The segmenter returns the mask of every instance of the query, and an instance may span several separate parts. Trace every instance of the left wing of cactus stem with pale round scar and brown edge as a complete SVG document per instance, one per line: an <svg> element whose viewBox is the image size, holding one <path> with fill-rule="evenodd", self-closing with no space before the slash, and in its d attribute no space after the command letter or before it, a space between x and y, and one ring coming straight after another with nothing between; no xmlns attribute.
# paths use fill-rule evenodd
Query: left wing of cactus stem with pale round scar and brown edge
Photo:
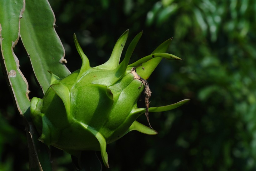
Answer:
<svg viewBox="0 0 256 171"><path fill-rule="evenodd" d="M20 38L20 20L25 10L25 0L18 3L1 1L0 7L3 16L0 18L1 65L6 69L5 77L17 110L23 115L30 106L28 83L20 71L19 60L13 50Z"/></svg>

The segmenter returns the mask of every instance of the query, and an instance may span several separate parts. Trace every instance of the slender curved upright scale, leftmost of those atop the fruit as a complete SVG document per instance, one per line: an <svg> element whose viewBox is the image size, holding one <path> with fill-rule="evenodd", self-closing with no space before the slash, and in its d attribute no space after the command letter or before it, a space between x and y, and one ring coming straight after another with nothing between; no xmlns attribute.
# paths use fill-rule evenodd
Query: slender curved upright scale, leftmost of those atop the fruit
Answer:
<svg viewBox="0 0 256 171"><path fill-rule="evenodd" d="M79 55L82 58L82 67L81 67L81 70L80 70L80 73L79 73L79 75L81 75L82 73L84 73L86 70L88 70L90 68L90 62L89 62L89 59L87 58L87 56L84 54L81 46L79 45L75 33L74 33L73 38L74 38L74 42L75 42L75 45L76 45L76 50L78 51Z"/></svg>

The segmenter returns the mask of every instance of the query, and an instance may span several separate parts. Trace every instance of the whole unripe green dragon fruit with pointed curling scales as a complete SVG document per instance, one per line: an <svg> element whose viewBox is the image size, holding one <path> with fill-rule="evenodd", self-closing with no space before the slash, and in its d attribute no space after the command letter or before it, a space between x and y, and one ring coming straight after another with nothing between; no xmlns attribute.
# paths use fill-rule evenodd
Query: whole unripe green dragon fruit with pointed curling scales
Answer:
<svg viewBox="0 0 256 171"><path fill-rule="evenodd" d="M41 136L39 140L79 157L81 151L101 151L106 167L109 167L106 144L120 139L131 130L144 134L157 132L136 119L148 112L166 111L186 102L149 108L151 91L146 79L161 58L180 58L162 53L170 41L160 45L149 56L128 65L130 56L139 41L140 32L130 43L124 60L119 64L121 52L128 37L128 30L118 39L110 59L96 67L81 50L74 35L75 45L82 58L81 69L65 78L52 74L51 85L42 99L31 100L31 118ZM168 45L166 45L168 44ZM147 63L147 65L146 65ZM151 67L151 68L150 68ZM138 74L138 71L143 76ZM138 108L137 101L145 93L145 108Z"/></svg>

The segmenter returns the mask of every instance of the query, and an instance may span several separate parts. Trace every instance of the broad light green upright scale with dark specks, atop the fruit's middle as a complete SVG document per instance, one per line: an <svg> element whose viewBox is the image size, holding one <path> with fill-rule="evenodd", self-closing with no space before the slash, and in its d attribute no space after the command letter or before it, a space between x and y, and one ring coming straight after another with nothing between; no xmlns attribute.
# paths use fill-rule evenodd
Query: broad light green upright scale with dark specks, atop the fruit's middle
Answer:
<svg viewBox="0 0 256 171"><path fill-rule="evenodd" d="M128 33L129 33L129 30L126 30L122 34L122 36L117 40L109 60L100 66L96 66L95 68L106 69L106 70L113 70L117 68L117 66L119 65L122 51L124 49L124 46L128 37Z"/></svg>

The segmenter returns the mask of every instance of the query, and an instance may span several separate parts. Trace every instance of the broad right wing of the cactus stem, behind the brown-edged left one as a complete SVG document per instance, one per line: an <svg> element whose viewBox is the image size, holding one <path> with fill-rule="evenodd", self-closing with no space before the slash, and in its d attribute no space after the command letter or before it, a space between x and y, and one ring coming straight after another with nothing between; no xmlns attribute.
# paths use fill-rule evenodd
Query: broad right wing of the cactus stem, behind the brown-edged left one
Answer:
<svg viewBox="0 0 256 171"><path fill-rule="evenodd" d="M20 35L43 93L50 86L52 71L60 78L70 71L64 65L65 51L55 31L55 16L47 0L26 0Z"/></svg>

